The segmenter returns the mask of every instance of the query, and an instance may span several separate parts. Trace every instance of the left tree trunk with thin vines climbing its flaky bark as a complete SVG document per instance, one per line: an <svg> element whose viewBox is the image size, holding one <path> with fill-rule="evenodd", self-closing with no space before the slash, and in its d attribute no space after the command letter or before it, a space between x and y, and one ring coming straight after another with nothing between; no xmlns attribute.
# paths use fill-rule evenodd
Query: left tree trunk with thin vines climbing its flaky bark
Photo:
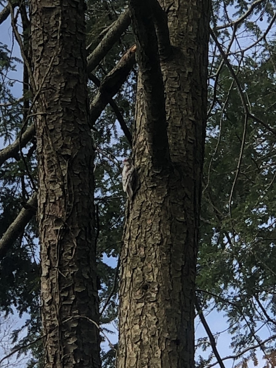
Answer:
<svg viewBox="0 0 276 368"><path fill-rule="evenodd" d="M45 368L99 368L85 2L30 3Z"/></svg>

